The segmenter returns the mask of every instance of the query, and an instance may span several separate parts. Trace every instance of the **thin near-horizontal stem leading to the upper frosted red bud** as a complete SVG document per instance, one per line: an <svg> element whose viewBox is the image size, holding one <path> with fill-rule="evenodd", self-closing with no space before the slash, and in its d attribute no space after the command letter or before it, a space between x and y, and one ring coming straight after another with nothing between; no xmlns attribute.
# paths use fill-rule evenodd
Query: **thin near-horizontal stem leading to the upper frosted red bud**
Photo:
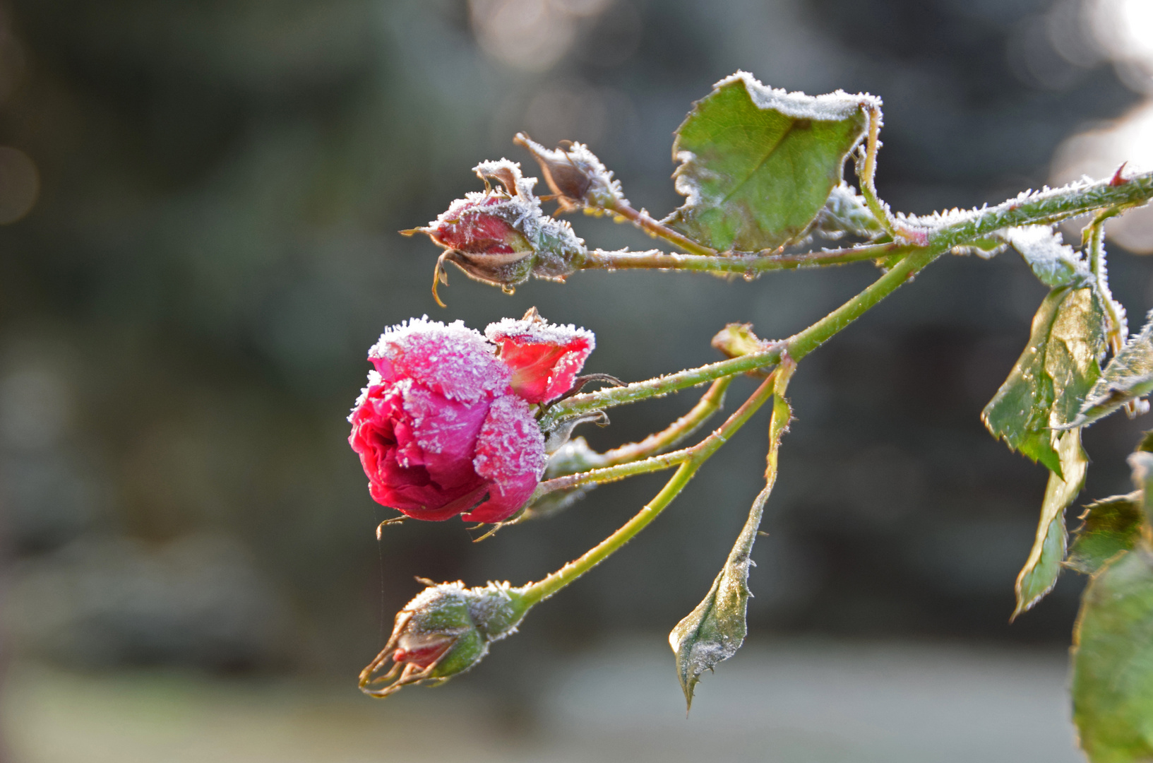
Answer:
<svg viewBox="0 0 1153 763"><path fill-rule="evenodd" d="M869 244L842 249L801 252L799 254L665 254L648 252L605 252L594 249L581 263L582 270L687 270L698 272L733 272L756 276L769 270L823 268L828 265L880 260L910 250L905 244Z"/></svg>

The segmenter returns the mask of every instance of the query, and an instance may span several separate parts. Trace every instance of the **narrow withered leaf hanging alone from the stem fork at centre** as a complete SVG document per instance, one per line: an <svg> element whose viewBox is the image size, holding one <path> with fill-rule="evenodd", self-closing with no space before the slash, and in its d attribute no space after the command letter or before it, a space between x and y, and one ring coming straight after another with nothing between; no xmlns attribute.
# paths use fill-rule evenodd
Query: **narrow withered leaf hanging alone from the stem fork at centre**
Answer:
<svg viewBox="0 0 1153 763"><path fill-rule="evenodd" d="M753 563L749 554L756 530L761 525L764 503L773 492L777 478L777 449L781 436L789 428L791 411L789 403L779 395L773 398L773 420L769 422L769 455L764 470L764 489L753 501L748 519L737 537L729 559L721 574L713 581L704 599L677 623L669 634L669 645L677 656L677 678L685 693L685 702L693 706L693 689L701 680L701 673L711 671L740 649L745 641L745 613L748 607L748 568Z"/></svg>

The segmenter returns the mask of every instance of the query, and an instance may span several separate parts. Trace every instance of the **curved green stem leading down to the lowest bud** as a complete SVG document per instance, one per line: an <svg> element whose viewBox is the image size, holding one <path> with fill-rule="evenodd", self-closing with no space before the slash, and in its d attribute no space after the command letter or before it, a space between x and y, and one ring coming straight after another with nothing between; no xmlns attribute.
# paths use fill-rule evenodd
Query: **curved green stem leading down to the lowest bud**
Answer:
<svg viewBox="0 0 1153 763"><path fill-rule="evenodd" d="M626 543L632 540L632 538L648 526L653 519L657 517L661 511L672 502L675 498L684 489L685 485L696 474L696 470L701 467L709 457L717 451L717 449L728 442L729 437L739 429L754 413L773 397L774 386L776 382L776 372L766 379L756 391L737 409L732 416L718 428L716 432L710 434L708 437L702 440L700 444L694 446L689 450L693 450L691 457L680 464L680 467L676 473L665 483L661 492L656 494L651 501L649 501L645 508L642 508L636 516L621 525L611 536L598 543L593 548L581 554L579 559L568 562L556 573L552 573L544 579L537 583L530 583L523 589L521 589L521 594L523 597L523 603L527 607L533 606L541 599L547 599L552 596L564 586L572 583L574 579L593 569L600 564L604 559L616 552L618 548L624 546Z"/></svg>

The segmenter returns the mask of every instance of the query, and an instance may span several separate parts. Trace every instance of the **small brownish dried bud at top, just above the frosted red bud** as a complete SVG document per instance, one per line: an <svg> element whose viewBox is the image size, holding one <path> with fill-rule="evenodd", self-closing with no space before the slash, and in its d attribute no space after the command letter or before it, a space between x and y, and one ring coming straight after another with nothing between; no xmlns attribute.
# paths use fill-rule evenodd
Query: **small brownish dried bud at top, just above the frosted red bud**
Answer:
<svg viewBox="0 0 1153 763"><path fill-rule="evenodd" d="M513 143L532 152L563 210L611 210L620 202L628 203L620 181L612 179L612 173L583 143L563 141L559 148L549 150L525 133L517 133Z"/></svg>

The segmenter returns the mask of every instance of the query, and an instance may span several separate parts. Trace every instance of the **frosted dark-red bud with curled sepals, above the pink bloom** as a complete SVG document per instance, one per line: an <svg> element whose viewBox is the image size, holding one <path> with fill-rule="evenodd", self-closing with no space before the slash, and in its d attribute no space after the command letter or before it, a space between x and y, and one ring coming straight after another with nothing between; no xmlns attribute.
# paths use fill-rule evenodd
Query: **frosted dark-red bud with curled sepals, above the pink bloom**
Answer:
<svg viewBox="0 0 1153 763"><path fill-rule="evenodd" d="M437 304L444 306L436 292L438 283L447 283L445 262L506 291L530 275L564 280L580 268L585 241L567 223L544 214L533 194L535 178L522 177L520 165L507 159L482 162L473 170L484 181L483 192L458 199L427 227L401 231L424 233L444 249L432 278Z"/></svg>

